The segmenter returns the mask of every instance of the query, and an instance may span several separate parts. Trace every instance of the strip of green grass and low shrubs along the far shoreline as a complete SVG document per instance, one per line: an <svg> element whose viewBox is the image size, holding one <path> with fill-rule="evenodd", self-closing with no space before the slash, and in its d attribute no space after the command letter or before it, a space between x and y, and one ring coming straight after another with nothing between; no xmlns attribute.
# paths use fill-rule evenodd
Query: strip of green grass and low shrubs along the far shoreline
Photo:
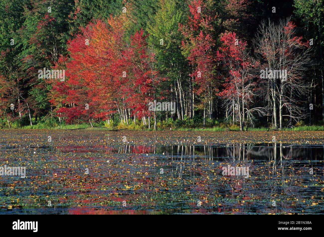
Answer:
<svg viewBox="0 0 324 237"><path fill-rule="evenodd" d="M9 129L6 121L0 121L0 129ZM26 118L23 119L22 125L19 120L16 120L11 123L11 129L128 129L134 131L152 131L154 130L154 119L151 119L151 127L148 128L148 121L146 120L146 125L143 125L143 121L136 120L134 122L132 119L127 122L120 121L118 118L110 119L110 121L97 121L92 122L92 126L90 123L77 123L77 124L65 124L58 121L56 117L44 117L42 119L38 119L37 121L34 119L32 121L33 125L28 125L29 120ZM205 124L205 127L204 127ZM284 123L288 124L287 121ZM303 121L299 121L295 123L295 126L292 128L283 128L282 131L324 131L324 123L322 121L311 121L312 125L305 124ZM244 127L244 130L246 128ZM205 123L202 118L189 119L187 116L183 120L173 120L171 118L167 120L157 121L156 122L156 130L158 131L230 131L230 130L239 130L239 126L237 124L232 124L230 121L226 121L224 119L211 120L206 119ZM272 129L271 123L268 124L256 124L254 128L248 127L248 131L268 131L274 130Z"/></svg>

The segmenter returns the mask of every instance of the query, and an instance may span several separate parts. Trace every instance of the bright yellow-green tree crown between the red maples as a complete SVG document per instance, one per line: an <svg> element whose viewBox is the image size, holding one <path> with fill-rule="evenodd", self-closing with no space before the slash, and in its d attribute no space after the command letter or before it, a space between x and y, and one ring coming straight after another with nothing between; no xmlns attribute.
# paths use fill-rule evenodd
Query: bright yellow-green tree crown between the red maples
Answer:
<svg viewBox="0 0 324 237"><path fill-rule="evenodd" d="M174 81L179 83L183 79L180 75L188 73L188 62L180 49L183 36L178 30L179 23L187 20L187 10L183 1L161 1L155 21L147 27L148 43L156 53L157 67L168 78L164 83L167 88L173 86Z"/></svg>

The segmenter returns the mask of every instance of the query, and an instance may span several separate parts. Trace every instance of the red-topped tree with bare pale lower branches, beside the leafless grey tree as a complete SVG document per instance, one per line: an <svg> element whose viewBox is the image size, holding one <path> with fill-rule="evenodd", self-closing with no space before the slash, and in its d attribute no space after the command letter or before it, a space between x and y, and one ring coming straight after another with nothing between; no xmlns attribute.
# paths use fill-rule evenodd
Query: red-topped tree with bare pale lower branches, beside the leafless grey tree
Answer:
<svg viewBox="0 0 324 237"><path fill-rule="evenodd" d="M235 33L225 33L221 41L224 43L220 48L221 53L218 52L218 58L224 60L228 77L220 96L224 98L224 107L228 108L227 114L233 116L233 121L236 115L242 131L245 123L254 126L256 113L265 115L263 107L254 107L259 91L259 75L256 70L259 63L249 56L247 43L238 41Z"/></svg>

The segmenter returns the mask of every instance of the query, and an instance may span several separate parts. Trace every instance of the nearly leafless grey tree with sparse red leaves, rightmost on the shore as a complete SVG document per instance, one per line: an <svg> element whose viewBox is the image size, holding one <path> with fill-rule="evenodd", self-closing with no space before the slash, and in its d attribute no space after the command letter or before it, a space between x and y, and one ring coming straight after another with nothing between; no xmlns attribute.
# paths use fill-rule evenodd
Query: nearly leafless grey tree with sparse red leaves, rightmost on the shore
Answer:
<svg viewBox="0 0 324 237"><path fill-rule="evenodd" d="M269 80L266 97L271 100L268 107L272 110L273 126L281 129L284 116L290 121L305 118L307 112L301 98L310 88L303 80L311 63L310 48L302 37L295 36L294 23L290 18L278 23L262 22L254 46L263 61L263 77Z"/></svg>

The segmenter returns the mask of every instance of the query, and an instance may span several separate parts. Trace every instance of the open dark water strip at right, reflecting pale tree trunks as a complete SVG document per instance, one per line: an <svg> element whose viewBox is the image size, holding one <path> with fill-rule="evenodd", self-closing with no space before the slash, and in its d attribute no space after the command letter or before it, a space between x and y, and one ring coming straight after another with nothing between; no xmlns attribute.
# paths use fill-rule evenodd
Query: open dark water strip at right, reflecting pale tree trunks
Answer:
<svg viewBox="0 0 324 237"><path fill-rule="evenodd" d="M67 149L69 150L69 149ZM98 148L100 150L100 148ZM114 146L113 153L163 154L204 160L323 160L323 145L230 144L226 146Z"/></svg>

